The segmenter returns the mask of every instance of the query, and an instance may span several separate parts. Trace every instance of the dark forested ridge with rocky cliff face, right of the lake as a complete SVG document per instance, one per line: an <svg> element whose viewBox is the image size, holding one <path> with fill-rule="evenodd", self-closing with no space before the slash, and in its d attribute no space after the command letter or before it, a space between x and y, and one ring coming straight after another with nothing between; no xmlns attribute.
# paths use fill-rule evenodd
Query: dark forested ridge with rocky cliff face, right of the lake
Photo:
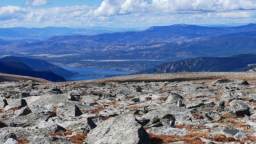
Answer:
<svg viewBox="0 0 256 144"><path fill-rule="evenodd" d="M246 71L249 68L256 67L255 64L256 53L238 54L230 57L200 57L163 63L155 68L146 69L136 74Z"/></svg>

